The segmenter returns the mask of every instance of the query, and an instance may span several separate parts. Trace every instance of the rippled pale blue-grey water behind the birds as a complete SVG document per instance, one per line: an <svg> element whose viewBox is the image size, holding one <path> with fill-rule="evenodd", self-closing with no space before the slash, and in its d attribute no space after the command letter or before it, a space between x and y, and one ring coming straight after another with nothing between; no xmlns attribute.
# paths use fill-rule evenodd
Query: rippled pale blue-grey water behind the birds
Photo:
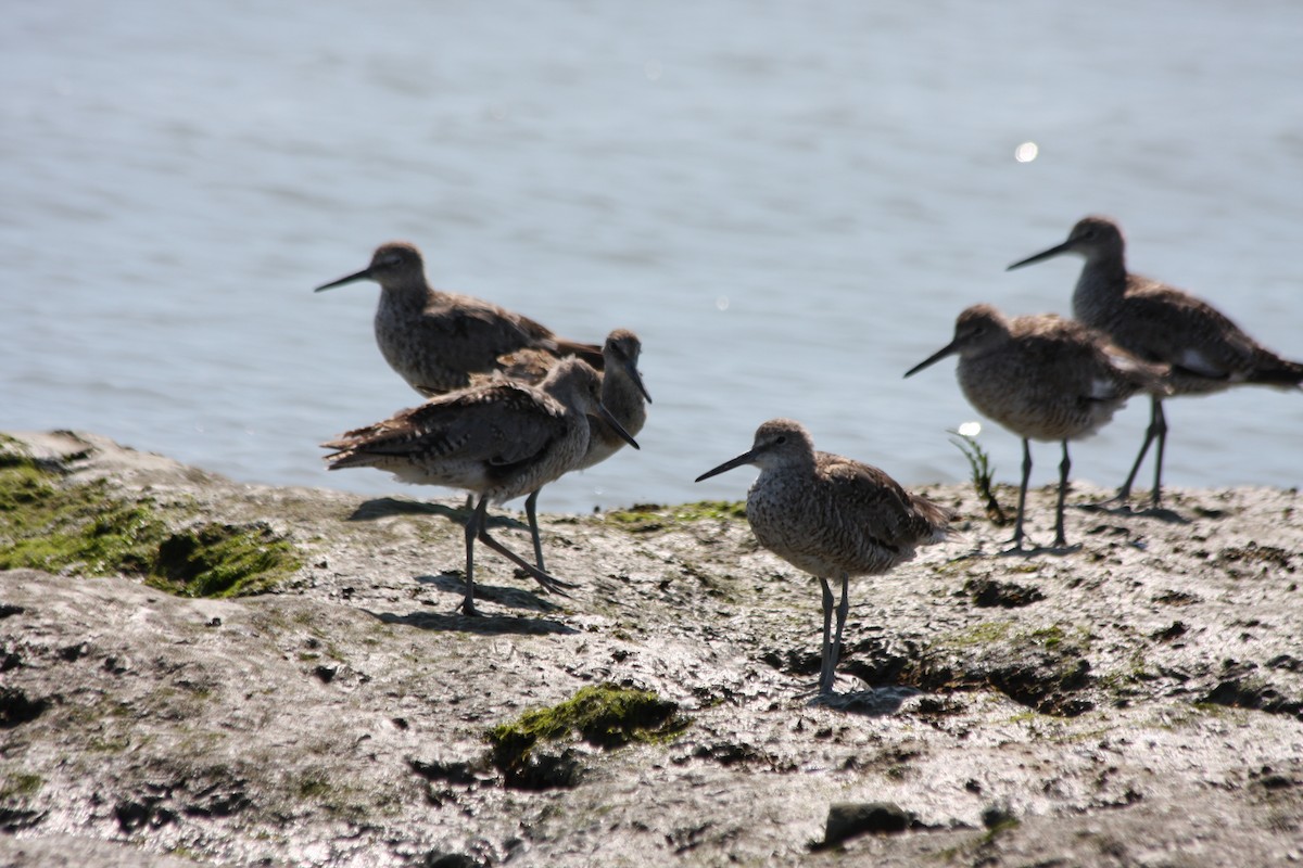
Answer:
<svg viewBox="0 0 1303 868"><path fill-rule="evenodd" d="M681 7L681 8L680 8ZM1003 267L1115 216L1130 264L1303 357L1303 5L13 0L0 30L0 427L87 428L266 483L417 397L377 289L433 282L644 340L641 453L543 509L740 497L697 474L775 415L907 483L967 476L964 306L1068 312L1079 262ZM1037 159L1015 160L1024 142ZM1134 402L1074 449L1117 484ZM1296 485L1303 397L1170 403L1173 484ZM1018 441L988 426L998 478ZM1036 481L1054 479L1042 446ZM1148 472L1148 471L1147 471ZM417 496L439 492L409 492Z"/></svg>

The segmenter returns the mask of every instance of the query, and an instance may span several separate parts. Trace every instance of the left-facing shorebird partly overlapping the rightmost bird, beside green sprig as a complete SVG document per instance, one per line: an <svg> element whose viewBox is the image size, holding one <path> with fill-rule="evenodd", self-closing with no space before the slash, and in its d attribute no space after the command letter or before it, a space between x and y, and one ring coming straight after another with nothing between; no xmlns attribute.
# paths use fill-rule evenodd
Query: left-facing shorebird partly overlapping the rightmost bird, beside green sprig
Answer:
<svg viewBox="0 0 1303 868"><path fill-rule="evenodd" d="M1023 481L1018 489L1014 550L1023 548L1029 440L1063 444L1059 463L1054 545L1066 547L1063 498L1072 467L1067 441L1095 433L1140 390L1162 394L1165 368L1110 346L1081 323L1041 314L1006 319L990 305L973 305L955 321L955 337L906 371L912 376L947 355L959 357L959 388L979 413L1023 440Z"/></svg>

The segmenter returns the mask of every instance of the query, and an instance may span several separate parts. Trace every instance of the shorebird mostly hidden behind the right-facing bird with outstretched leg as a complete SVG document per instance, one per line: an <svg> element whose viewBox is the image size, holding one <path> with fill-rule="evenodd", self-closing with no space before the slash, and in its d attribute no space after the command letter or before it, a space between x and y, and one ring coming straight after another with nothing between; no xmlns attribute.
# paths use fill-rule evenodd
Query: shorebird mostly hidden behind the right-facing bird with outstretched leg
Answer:
<svg viewBox="0 0 1303 868"><path fill-rule="evenodd" d="M638 355L642 353L642 342L638 336L627 328L618 328L606 336L602 345L602 405L615 416L624 432L638 436L642 426L648 420L646 405L652 403L652 396L642 385L642 375L638 373ZM489 383L493 379L507 377L521 383L539 383L549 371L556 366L556 358L539 350L520 350L500 359L502 368L493 375L477 375L476 381ZM588 452L571 470L586 470L598 465L627 442L620 431L616 431L599 414L589 414ZM529 519L529 531L534 543L534 563L539 570L543 566L543 545L538 537L538 493L536 488L525 498L525 517Z"/></svg>

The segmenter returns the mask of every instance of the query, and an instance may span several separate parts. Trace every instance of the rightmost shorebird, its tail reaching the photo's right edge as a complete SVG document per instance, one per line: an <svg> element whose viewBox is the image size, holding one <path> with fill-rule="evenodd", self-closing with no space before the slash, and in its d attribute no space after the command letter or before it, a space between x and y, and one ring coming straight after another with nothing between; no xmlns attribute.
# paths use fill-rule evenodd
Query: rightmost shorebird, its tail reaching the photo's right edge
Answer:
<svg viewBox="0 0 1303 868"><path fill-rule="evenodd" d="M1072 315L1128 353L1170 366L1173 396L1208 394L1240 383L1290 388L1303 381L1303 363L1282 359L1263 347L1212 305L1175 286L1127 272L1122 230L1106 217L1081 219L1067 241L1014 263L1009 271L1068 252L1085 258L1072 292ZM1162 454L1167 441L1158 393L1152 394L1149 427L1118 500L1131 496L1131 484L1156 439L1154 508L1162 500Z"/></svg>

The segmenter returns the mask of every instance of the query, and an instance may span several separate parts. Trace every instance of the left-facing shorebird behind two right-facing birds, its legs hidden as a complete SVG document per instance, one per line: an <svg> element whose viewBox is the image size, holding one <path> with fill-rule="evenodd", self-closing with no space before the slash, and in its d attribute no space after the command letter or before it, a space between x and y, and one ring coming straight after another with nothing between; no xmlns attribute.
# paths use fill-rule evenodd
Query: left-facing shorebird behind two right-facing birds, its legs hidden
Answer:
<svg viewBox="0 0 1303 868"><path fill-rule="evenodd" d="M433 289L414 245L380 245L370 265L315 292L358 280L380 285L375 342L384 360L426 397L464 389L472 373L494 371L499 357L525 347L556 357L579 355L602 367L597 345L558 337L528 316L478 298Z"/></svg>

